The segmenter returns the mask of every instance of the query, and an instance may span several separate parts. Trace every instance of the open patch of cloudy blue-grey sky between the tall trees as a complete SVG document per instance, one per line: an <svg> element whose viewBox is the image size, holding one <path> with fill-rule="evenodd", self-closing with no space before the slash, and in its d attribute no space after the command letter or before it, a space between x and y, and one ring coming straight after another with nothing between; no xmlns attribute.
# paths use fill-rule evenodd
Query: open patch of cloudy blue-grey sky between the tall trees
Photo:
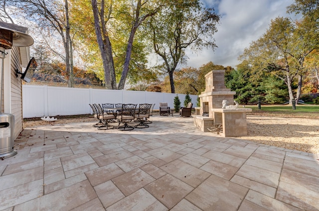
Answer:
<svg viewBox="0 0 319 211"><path fill-rule="evenodd" d="M286 13L294 0L202 0L206 7L213 7L221 15L217 32L213 35L218 48L203 49L192 54L187 52L187 67L200 67L212 61L216 65L236 69L238 56L252 41L261 37L269 28L272 19Z"/></svg>

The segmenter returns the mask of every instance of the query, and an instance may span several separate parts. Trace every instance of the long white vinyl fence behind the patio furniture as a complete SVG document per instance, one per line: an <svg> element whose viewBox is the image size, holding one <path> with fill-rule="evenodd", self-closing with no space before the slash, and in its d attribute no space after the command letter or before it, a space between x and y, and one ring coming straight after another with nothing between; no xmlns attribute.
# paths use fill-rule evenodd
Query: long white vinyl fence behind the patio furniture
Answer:
<svg viewBox="0 0 319 211"><path fill-rule="evenodd" d="M174 107L176 94L127 90L81 89L49 86L22 86L23 118L92 113L89 104L155 104ZM197 95L189 95L193 107ZM185 95L178 94L181 106Z"/></svg>

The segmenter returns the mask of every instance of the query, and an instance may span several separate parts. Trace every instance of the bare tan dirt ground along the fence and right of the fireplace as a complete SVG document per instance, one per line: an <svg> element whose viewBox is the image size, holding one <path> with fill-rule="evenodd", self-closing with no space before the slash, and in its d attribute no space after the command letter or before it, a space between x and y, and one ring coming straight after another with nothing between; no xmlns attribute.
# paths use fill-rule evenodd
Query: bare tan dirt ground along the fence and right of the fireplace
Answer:
<svg viewBox="0 0 319 211"><path fill-rule="evenodd" d="M96 121L85 116L81 118L58 118L54 122L29 120L24 127L69 122ZM247 114L248 135L239 137L262 144L319 154L319 116L285 116L270 114Z"/></svg>

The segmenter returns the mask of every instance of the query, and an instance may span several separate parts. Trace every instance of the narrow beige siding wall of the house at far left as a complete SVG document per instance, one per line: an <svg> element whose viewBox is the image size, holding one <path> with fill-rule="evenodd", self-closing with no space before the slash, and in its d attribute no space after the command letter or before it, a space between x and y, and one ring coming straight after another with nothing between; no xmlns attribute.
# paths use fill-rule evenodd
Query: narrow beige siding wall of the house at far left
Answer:
<svg viewBox="0 0 319 211"><path fill-rule="evenodd" d="M14 139L23 129L22 118L22 82L20 76L15 77L15 70L21 72L21 58L19 48L11 49L11 113L14 115Z"/></svg>

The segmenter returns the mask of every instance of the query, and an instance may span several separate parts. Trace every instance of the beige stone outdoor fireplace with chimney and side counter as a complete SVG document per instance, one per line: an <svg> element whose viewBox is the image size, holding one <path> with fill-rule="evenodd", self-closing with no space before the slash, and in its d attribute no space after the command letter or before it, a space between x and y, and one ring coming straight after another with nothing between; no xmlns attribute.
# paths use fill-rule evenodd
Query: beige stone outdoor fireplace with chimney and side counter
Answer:
<svg viewBox="0 0 319 211"><path fill-rule="evenodd" d="M223 101L234 105L234 95L225 86L225 71L213 70L205 75L205 91L199 95L199 115L194 116L194 125L202 131L218 125L224 137L247 135L246 112L250 108L222 108Z"/></svg>

